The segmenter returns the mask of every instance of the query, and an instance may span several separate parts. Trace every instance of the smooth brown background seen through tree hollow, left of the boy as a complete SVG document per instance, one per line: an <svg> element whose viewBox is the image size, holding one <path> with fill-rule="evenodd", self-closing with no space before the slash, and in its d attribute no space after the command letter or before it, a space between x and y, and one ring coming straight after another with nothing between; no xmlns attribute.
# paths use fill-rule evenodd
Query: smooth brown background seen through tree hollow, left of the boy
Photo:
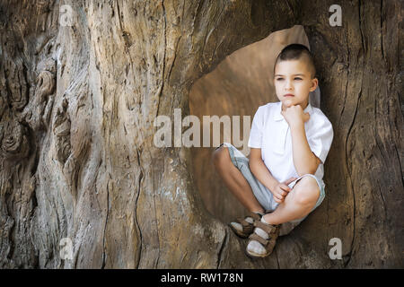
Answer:
<svg viewBox="0 0 404 287"><path fill-rule="evenodd" d="M203 117L230 118L230 140L224 140L224 124L221 124L220 143L230 142L248 156L250 125L247 135L243 135L243 116L250 116L251 124L259 106L278 101L272 80L273 65L281 49L292 43L310 47L303 26L278 30L265 39L233 52L214 71L194 83L189 92L190 115L197 116L201 123L201 147L191 148L194 185L198 188L207 211L224 223L246 214L247 211L224 186L211 161L212 153L218 145L212 140L214 125L207 125L210 144L209 147L203 147ZM236 128L240 130L241 147L233 143L234 116L240 116L240 125ZM227 136L228 134L227 132Z"/></svg>

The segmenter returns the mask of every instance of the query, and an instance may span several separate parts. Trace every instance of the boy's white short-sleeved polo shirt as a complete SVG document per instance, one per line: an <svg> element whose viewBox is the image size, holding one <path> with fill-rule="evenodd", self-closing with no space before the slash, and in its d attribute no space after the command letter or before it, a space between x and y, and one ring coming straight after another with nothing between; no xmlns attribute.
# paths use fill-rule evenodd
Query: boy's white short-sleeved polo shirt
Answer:
<svg viewBox="0 0 404 287"><path fill-rule="evenodd" d="M279 182L288 178L298 178L294 169L292 151L292 136L285 117L281 114L282 102L269 102L260 106L252 120L249 147L260 148L262 161ZM304 123L307 142L312 152L321 160L315 176L325 187L323 163L329 153L334 132L329 119L321 109L314 108L309 103L304 112L310 114L310 119Z"/></svg>

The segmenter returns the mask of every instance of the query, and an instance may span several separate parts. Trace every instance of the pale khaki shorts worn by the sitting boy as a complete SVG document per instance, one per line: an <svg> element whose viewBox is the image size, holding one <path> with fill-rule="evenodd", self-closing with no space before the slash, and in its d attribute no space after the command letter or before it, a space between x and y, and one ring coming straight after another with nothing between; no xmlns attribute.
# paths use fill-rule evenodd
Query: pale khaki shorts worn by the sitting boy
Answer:
<svg viewBox="0 0 404 287"><path fill-rule="evenodd" d="M242 172L242 176L247 180L247 182L250 184L250 187L252 189L252 192L254 196L257 198L259 204L268 211L274 211L277 208L278 203L275 201L272 193L269 191L267 187L265 187L263 184L259 182L259 180L252 174L249 166L249 159L242 154L233 144L231 143L221 143L216 149L221 147L222 145L226 146L229 150L230 153L230 158L233 162L233 165ZM293 188L296 182L303 178L303 177L312 177L315 178L317 181L317 184L320 187L320 196L319 199L317 200L317 203L314 205L312 208L312 211L316 209L321 202L324 200L325 197L325 191L324 191L324 183L322 180L319 178L315 177L312 174L304 174L303 176L294 179L288 187ZM311 211L311 213L312 213ZM285 235L289 233L291 230L294 229L297 225L299 225L300 222L303 222L303 220L307 217L304 216L301 219L294 220L292 222L285 222L282 224L281 229L280 229L280 236Z"/></svg>

